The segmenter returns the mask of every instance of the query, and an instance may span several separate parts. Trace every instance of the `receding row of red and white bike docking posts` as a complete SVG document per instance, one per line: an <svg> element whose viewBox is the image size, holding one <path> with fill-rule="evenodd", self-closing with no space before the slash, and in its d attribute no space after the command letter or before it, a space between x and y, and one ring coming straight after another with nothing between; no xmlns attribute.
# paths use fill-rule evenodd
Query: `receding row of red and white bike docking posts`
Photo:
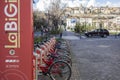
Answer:
<svg viewBox="0 0 120 80"><path fill-rule="evenodd" d="M39 68L39 66L45 66L45 63L43 60L47 59L47 55L49 55L50 49L53 49L56 43L55 37L51 38L49 41L44 43L44 45L41 45L40 48L36 48L33 58L33 73L34 73L34 79L38 80L38 75L42 70ZM35 76L36 75L36 76Z"/></svg>

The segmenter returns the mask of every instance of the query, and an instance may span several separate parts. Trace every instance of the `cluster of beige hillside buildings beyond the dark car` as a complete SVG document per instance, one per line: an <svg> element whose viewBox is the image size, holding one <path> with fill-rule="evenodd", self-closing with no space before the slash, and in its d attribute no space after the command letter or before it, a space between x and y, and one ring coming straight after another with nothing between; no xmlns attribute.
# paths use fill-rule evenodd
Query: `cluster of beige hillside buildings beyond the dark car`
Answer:
<svg viewBox="0 0 120 80"><path fill-rule="evenodd" d="M67 7L64 13L66 29L73 30L76 23L114 30L120 24L120 7Z"/></svg>

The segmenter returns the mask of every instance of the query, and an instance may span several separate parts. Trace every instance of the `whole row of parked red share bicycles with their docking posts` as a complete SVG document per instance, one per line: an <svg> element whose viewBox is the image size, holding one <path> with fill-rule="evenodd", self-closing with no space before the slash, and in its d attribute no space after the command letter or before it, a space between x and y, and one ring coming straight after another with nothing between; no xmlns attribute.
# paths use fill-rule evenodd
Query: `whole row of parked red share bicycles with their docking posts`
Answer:
<svg viewBox="0 0 120 80"><path fill-rule="evenodd" d="M50 38L46 42L35 44L34 76L38 80L38 73L49 76L52 80L70 80L71 56L65 40Z"/></svg>

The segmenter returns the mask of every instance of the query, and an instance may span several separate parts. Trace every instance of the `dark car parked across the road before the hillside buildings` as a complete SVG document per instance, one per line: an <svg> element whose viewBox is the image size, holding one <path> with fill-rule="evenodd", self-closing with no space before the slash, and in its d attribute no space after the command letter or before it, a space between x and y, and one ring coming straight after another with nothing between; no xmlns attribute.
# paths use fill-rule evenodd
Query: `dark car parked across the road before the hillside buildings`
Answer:
<svg viewBox="0 0 120 80"><path fill-rule="evenodd" d="M87 37L92 37L92 36L107 37L109 36L109 31L107 29L95 29L90 32L85 32L85 35Z"/></svg>

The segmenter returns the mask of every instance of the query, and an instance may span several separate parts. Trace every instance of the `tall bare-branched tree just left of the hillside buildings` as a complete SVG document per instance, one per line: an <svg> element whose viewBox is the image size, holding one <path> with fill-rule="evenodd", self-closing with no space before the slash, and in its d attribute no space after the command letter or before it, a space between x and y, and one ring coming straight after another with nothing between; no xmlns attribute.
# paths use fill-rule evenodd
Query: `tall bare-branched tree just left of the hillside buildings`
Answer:
<svg viewBox="0 0 120 80"><path fill-rule="evenodd" d="M66 4L63 4L61 0L52 0L49 8L46 9L48 12L48 20L53 24L53 29L58 29L58 25L61 24L62 18L65 12Z"/></svg>

